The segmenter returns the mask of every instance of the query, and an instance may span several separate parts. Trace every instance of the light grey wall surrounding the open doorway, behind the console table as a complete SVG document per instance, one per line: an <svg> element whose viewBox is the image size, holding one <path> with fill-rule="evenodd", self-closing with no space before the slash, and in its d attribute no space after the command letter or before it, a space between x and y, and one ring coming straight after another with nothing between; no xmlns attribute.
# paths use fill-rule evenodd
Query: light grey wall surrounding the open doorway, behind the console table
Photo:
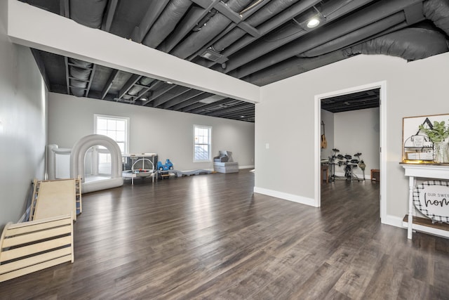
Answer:
<svg viewBox="0 0 449 300"><path fill-rule="evenodd" d="M261 89L256 105L255 190L284 193L313 202L314 97L332 91L386 81L387 214L398 221L406 214L408 180L401 162L402 118L449 112L447 80L449 53L408 63L389 56L354 56L298 74ZM276 120L276 122L272 122ZM265 144L270 148L266 149ZM272 175L273 162L288 160L293 172Z"/></svg>

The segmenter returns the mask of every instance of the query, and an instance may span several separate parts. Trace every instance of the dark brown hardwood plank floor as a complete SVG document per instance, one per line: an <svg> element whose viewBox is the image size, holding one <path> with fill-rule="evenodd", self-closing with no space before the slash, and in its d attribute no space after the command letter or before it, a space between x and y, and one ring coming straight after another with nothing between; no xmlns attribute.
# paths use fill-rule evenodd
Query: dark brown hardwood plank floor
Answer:
<svg viewBox="0 0 449 300"><path fill-rule="evenodd" d="M0 299L449 299L449 240L382 225L378 183L325 184L321 208L253 185L241 170L83 195L74 263Z"/></svg>

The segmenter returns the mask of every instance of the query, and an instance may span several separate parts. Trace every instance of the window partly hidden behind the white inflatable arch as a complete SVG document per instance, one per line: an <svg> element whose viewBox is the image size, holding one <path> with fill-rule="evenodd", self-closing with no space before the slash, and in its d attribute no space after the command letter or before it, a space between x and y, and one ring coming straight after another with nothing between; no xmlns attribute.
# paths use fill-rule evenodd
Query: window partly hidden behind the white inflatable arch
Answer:
<svg viewBox="0 0 449 300"><path fill-rule="evenodd" d="M94 115L94 131L97 134L109 136L119 145L122 153L128 152L129 134L128 134L128 117L115 117L108 115ZM109 174L111 165L111 155L109 151L105 151L104 147L98 147L98 174ZM93 172L94 174L96 172Z"/></svg>

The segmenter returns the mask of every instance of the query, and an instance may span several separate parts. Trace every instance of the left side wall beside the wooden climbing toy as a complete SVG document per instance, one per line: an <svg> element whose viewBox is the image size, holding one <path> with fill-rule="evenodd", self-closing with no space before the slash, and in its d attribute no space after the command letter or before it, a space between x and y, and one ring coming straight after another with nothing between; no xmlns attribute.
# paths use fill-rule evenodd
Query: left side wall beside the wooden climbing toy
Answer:
<svg viewBox="0 0 449 300"><path fill-rule="evenodd" d="M29 48L8 41L6 11L0 1L0 228L25 212L46 145L46 91Z"/></svg>

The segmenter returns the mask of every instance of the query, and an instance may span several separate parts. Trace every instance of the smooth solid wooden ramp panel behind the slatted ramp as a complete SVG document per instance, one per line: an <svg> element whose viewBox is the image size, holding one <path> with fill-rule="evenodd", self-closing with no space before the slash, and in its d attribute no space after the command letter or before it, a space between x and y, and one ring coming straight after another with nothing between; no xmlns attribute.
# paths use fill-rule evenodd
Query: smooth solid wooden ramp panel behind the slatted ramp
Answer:
<svg viewBox="0 0 449 300"><path fill-rule="evenodd" d="M81 214L81 179L34 181L29 221L51 216Z"/></svg>

